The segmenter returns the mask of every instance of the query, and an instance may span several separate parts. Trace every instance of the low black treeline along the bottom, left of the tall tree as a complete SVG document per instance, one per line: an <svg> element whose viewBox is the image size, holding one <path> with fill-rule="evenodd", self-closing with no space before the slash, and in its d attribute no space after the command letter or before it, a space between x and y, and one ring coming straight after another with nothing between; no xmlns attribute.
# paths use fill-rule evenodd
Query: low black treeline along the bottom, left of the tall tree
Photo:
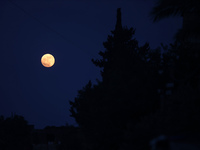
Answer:
<svg viewBox="0 0 200 150"><path fill-rule="evenodd" d="M34 129L22 116L0 116L0 150L78 150L83 137L78 127Z"/></svg>

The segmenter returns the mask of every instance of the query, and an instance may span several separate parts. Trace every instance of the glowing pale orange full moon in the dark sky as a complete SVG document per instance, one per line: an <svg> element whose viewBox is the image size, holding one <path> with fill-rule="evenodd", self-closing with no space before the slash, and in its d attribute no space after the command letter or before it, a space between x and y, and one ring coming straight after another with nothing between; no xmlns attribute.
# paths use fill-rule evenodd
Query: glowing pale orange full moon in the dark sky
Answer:
<svg viewBox="0 0 200 150"><path fill-rule="evenodd" d="M44 67L52 67L55 63L55 58L51 54L44 54L41 58L41 63Z"/></svg>

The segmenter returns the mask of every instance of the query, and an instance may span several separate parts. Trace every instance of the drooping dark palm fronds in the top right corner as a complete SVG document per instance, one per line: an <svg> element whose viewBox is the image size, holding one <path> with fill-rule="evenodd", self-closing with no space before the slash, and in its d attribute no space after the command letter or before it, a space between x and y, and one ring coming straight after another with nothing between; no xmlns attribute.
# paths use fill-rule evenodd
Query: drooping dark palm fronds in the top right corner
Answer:
<svg viewBox="0 0 200 150"><path fill-rule="evenodd" d="M182 16L183 25L175 38L179 42L200 44L200 0L158 0L150 12L153 22L170 16Z"/></svg>

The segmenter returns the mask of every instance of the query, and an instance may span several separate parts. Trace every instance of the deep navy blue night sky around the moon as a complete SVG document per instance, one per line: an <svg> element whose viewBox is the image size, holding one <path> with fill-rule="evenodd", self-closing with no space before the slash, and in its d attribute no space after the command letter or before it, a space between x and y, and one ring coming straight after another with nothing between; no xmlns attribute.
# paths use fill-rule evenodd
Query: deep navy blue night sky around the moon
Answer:
<svg viewBox="0 0 200 150"><path fill-rule="evenodd" d="M13 3L13 2L14 3ZM100 58L117 8L122 25L136 28L139 45L173 42L180 17L153 23L153 0L1 0L0 1L0 115L22 115L35 128L76 125L69 100L89 80L101 79L91 59ZM43 54L55 57L42 66Z"/></svg>

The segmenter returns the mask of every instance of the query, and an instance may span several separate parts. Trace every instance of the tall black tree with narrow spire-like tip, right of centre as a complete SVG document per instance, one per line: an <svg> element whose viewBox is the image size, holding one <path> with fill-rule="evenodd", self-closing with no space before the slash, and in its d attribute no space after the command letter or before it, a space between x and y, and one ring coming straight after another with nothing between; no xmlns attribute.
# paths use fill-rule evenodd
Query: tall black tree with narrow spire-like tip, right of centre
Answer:
<svg viewBox="0 0 200 150"><path fill-rule="evenodd" d="M159 52L149 45L139 47L133 39L135 29L122 27L121 10L117 23L103 43L100 60L92 62L102 68L102 81L91 81L70 101L74 117L96 149L119 149L127 125L135 125L142 116L159 107ZM157 56L156 56L157 54Z"/></svg>

